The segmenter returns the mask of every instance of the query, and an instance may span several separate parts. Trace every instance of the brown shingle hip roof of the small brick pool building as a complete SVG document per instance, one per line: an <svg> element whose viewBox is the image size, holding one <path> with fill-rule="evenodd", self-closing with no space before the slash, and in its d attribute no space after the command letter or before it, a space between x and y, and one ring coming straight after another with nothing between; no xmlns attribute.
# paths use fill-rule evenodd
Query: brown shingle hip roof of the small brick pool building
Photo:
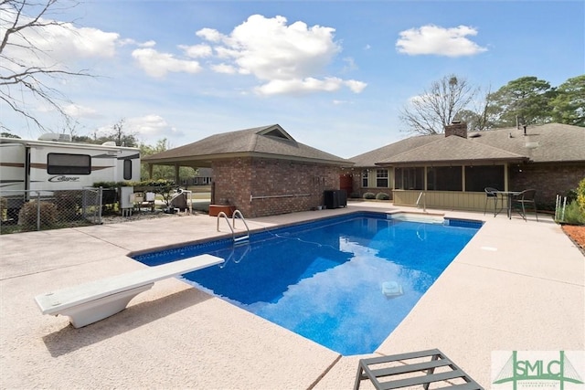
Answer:
<svg viewBox="0 0 585 390"><path fill-rule="evenodd" d="M256 156L285 158L313 163L333 163L351 166L352 162L325 153L301 142L285 132L278 124L223 132L203 140L179 146L168 151L144 157L147 163L201 163L207 166L213 159Z"/></svg>

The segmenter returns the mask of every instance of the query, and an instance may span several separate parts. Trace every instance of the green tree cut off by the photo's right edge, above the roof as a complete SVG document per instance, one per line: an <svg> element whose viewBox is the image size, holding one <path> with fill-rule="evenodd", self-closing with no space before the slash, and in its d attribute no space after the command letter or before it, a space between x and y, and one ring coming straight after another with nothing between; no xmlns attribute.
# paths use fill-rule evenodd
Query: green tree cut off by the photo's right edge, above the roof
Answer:
<svg viewBox="0 0 585 390"><path fill-rule="evenodd" d="M560 84L550 105L555 121L585 127L585 75Z"/></svg>

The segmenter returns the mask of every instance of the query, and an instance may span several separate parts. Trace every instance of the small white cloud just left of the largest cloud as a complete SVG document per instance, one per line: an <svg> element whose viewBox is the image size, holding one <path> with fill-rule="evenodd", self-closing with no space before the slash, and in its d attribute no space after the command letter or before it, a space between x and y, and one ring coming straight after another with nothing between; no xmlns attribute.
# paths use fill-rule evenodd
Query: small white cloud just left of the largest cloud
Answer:
<svg viewBox="0 0 585 390"><path fill-rule="evenodd" d="M202 70L197 61L178 59L169 53L160 53L154 48L137 48L132 57L138 66L155 78L163 78L168 72L198 73Z"/></svg>

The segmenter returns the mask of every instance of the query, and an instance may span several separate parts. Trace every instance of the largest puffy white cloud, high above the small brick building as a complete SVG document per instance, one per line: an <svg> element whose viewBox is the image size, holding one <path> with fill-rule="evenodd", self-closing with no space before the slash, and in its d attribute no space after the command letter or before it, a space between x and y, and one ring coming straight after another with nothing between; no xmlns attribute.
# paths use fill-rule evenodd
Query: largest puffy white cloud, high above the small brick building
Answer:
<svg viewBox="0 0 585 390"><path fill-rule="evenodd" d="M341 52L334 41L334 28L286 23L283 16L253 15L229 36L203 28L197 37L214 44L215 56L222 60L211 69L252 75L263 82L255 89L259 94L334 91L343 86L356 93L363 90L365 83L356 88L358 81L326 76L326 67Z"/></svg>

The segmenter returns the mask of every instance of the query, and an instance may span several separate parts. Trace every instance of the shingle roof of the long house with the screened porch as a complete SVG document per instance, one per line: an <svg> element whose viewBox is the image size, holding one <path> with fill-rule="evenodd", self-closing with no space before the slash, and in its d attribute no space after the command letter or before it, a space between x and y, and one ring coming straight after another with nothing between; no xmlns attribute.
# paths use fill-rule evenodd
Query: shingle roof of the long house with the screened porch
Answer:
<svg viewBox="0 0 585 390"><path fill-rule="evenodd" d="M468 132L466 139L444 134L420 135L350 158L356 166L377 163L455 163L517 161L585 162L585 129L548 123L523 129Z"/></svg>

